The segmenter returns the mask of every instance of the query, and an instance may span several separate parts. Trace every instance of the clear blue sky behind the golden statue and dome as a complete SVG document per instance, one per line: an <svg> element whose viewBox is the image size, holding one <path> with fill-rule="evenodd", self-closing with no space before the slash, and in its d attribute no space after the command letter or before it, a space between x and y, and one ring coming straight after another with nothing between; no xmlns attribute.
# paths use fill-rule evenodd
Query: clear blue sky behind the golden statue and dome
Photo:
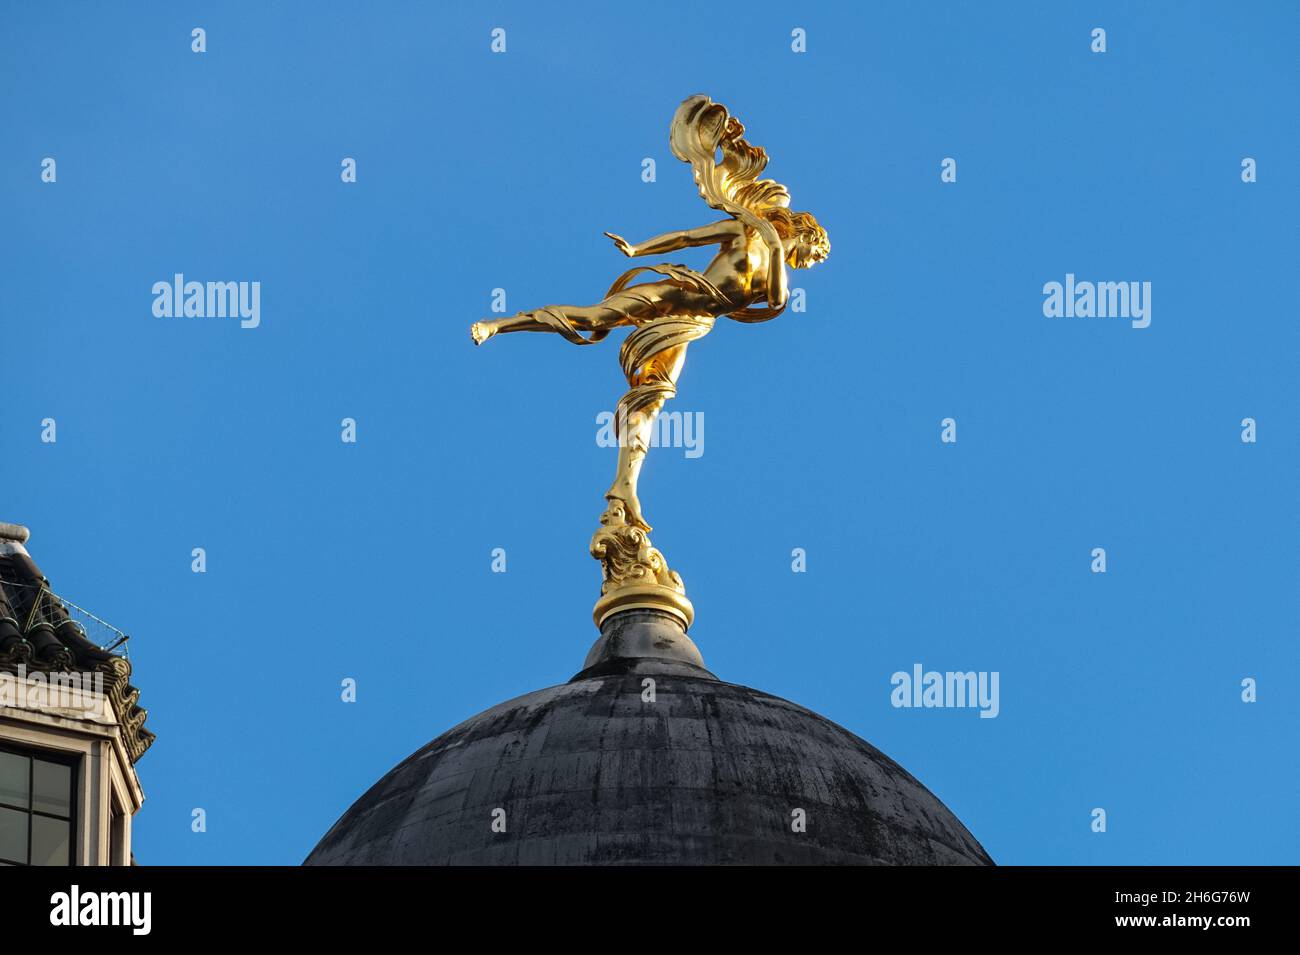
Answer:
<svg viewBox="0 0 1300 955"><path fill-rule="evenodd" d="M668 151L693 92L833 244L806 313L690 346L705 453L646 468L708 665L879 746L1001 863L1297 860L1300 6L332 6L0 14L0 520L133 634L143 864L298 863L580 668L618 337L467 329L497 287L599 298L602 230L716 218ZM155 318L177 272L261 282L260 327ZM1044 317L1066 273L1149 281L1150 326ZM997 670L1001 713L893 708L915 663Z"/></svg>

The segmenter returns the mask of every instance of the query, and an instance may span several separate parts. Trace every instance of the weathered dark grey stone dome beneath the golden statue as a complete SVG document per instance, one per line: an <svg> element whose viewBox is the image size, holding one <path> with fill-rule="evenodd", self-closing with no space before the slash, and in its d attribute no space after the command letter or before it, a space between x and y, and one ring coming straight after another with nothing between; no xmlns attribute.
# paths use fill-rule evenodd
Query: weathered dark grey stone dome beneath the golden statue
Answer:
<svg viewBox="0 0 1300 955"><path fill-rule="evenodd" d="M719 681L659 616L619 615L568 683L407 758L306 864L993 864L892 759L803 707ZM506 832L493 830L497 809Z"/></svg>

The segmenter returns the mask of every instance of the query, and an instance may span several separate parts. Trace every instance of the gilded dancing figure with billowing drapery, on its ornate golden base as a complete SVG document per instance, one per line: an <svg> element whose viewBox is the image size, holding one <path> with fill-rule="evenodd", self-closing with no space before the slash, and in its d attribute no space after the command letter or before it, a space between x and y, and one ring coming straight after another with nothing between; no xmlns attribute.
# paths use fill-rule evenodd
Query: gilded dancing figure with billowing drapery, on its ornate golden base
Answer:
<svg viewBox="0 0 1300 955"><path fill-rule="evenodd" d="M750 146L741 122L707 96L686 99L672 118L672 153L689 162L703 200L728 218L699 229L666 233L632 244L606 233L625 256L659 255L716 244L703 273L685 265L641 265L623 273L595 305L546 305L508 318L474 322L482 344L506 331L554 331L573 344L595 344L614 329L634 326L619 351L628 392L615 411L619 457L592 556L602 561L603 585L597 625L618 609L668 609L686 626L694 617L681 578L650 546L637 478L664 401L677 392L686 346L703 338L722 316L764 322L785 309L785 266L805 269L831 252L826 230L807 212L790 212L789 191L759 179L767 153ZM718 153L722 152L722 161ZM629 285L641 273L651 282Z"/></svg>

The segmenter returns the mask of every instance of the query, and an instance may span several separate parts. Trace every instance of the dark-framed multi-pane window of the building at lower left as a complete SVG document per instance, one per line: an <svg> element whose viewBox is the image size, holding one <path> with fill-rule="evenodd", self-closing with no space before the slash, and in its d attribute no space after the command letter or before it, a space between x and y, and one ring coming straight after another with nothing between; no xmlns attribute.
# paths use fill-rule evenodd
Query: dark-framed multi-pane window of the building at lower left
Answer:
<svg viewBox="0 0 1300 955"><path fill-rule="evenodd" d="M72 865L75 759L0 747L0 865Z"/></svg>

